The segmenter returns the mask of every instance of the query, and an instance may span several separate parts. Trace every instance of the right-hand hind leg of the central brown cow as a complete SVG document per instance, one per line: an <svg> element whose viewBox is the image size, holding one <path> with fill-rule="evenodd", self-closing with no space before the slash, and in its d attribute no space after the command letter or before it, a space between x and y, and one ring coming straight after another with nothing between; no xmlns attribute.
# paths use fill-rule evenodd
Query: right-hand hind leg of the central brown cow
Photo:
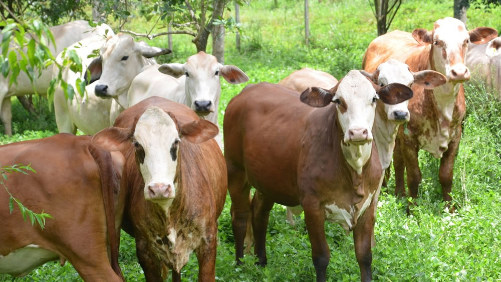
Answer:
<svg viewBox="0 0 501 282"><path fill-rule="evenodd" d="M259 258L258 264L265 266L268 261L266 258L266 230L268 228L268 220L270 219L270 211L275 204L274 201L265 197L256 190L252 200L252 228L254 229L254 254Z"/></svg>

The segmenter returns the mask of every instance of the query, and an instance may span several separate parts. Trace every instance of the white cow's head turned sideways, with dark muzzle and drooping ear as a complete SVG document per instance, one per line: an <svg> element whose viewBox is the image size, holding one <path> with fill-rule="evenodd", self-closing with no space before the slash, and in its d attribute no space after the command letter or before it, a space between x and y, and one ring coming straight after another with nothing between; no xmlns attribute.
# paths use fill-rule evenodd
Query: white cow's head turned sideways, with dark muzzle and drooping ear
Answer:
<svg viewBox="0 0 501 282"><path fill-rule="evenodd" d="M126 93L132 79L141 69L154 63L147 59L170 52L169 49L151 47L145 42L135 42L132 36L123 33L108 38L101 47L100 56L88 67L91 80L99 79L95 87L96 95L116 97Z"/></svg>

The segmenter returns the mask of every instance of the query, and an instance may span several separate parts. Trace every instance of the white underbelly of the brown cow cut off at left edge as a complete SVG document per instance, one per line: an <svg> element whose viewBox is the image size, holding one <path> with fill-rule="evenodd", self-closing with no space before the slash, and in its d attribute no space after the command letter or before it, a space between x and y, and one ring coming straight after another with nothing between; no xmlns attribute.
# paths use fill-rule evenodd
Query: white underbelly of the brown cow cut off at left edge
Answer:
<svg viewBox="0 0 501 282"><path fill-rule="evenodd" d="M0 255L0 273L24 276L40 265L58 258L58 254L30 244L6 256Z"/></svg>

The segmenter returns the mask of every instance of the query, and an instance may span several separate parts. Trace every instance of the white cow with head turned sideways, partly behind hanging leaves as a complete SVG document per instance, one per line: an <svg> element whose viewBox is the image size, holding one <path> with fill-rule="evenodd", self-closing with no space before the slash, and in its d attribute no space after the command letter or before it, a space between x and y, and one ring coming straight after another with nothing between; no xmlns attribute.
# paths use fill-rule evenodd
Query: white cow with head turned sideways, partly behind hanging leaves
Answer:
<svg viewBox="0 0 501 282"><path fill-rule="evenodd" d="M78 87L77 79L85 79L89 85L86 86L87 97L75 94L73 99L69 100L66 99L61 86L56 88L54 111L59 132L75 133L79 128L86 134L95 134L113 125L123 110L120 101L100 97L118 97L127 93L132 79L141 69L156 63L153 57L171 52L168 49L151 47L145 42L134 42L132 36L127 34L115 35L109 27L106 30L106 34L103 32L85 38L69 48L75 50L82 59L84 74L66 68L63 71L63 80L74 89ZM96 49L100 50L100 56L89 58L88 55ZM57 61L62 62L63 59L60 54ZM56 75L57 70L54 71L54 76Z"/></svg>

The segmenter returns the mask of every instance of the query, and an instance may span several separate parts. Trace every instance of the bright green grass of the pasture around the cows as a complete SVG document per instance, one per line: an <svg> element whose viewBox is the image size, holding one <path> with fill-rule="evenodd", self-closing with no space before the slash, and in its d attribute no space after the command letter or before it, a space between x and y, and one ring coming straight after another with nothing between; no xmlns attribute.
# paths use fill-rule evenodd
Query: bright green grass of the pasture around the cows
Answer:
<svg viewBox="0 0 501 282"><path fill-rule="evenodd" d="M452 0L408 0L402 4L391 29L412 31L431 29L436 19L452 16ZM468 10L468 27L490 26L501 29L501 9ZM292 71L311 67L341 78L351 69L361 67L362 56L369 42L376 37L376 23L368 2L310 2L311 43L303 43L303 3L272 0L252 2L240 9L244 27L241 52L235 49L234 35L225 38L225 64L244 70L249 83L276 83ZM228 14L229 15L229 14ZM147 25L136 19L136 30ZM150 45L166 46L166 38L156 38ZM184 62L195 53L188 36L174 36L173 55L160 62ZM207 49L210 51L210 44ZM222 82L219 110L222 114L229 100L244 85ZM501 103L497 93L481 82L465 86L467 112L463 135L454 166L453 199L460 208L454 214L444 211L438 182L439 161L421 151L419 154L423 181L417 206L407 217L406 199L393 195L394 180L380 196L373 248L372 272L381 281L498 281L501 280ZM44 111L41 118L25 113L14 101L14 132L0 143L40 138L56 132L52 112ZM46 123L44 123L46 122ZM2 129L2 128L0 128ZM254 265L254 256L245 256L244 264L234 264L234 241L229 216L230 200L219 218L216 280L218 281L312 281L315 269L311 261L311 246L304 231L304 221L297 225L285 222L285 208L276 205L270 215L267 252L268 266ZM328 281L360 279L352 236L343 229L325 223L331 259ZM133 239L122 232L120 265L128 280L144 280ZM183 280L197 279L195 256L182 270ZM23 278L0 274L0 281L65 281L80 280L70 263L64 267L50 262Z"/></svg>

